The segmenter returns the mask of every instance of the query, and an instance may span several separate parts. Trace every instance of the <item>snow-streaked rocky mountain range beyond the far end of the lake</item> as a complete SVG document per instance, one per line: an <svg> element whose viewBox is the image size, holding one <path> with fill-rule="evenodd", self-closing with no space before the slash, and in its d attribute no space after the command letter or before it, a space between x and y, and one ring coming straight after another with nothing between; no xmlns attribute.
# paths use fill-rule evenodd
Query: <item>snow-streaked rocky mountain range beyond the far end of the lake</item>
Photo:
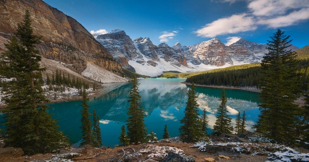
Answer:
<svg viewBox="0 0 309 162"><path fill-rule="evenodd" d="M124 68L146 76L157 76L164 71L193 72L256 63L268 52L266 44L242 38L230 46L218 38L193 46L182 46L179 42L173 47L166 43L155 46L149 38L132 41L125 31L117 29L96 39ZM291 46L291 49L298 48Z"/></svg>

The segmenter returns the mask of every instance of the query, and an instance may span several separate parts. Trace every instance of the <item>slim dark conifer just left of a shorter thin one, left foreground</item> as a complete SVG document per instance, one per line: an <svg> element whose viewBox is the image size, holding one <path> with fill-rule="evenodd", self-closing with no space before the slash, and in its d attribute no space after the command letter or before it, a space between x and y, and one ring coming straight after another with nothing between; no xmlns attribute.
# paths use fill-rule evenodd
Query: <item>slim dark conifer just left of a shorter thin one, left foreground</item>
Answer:
<svg viewBox="0 0 309 162"><path fill-rule="evenodd" d="M82 109L80 110L81 112L81 142L79 146L84 146L84 145L95 145L95 136L94 133L91 129L91 121L90 121L90 113L89 113L89 105L87 103L87 93L85 88L82 90Z"/></svg>

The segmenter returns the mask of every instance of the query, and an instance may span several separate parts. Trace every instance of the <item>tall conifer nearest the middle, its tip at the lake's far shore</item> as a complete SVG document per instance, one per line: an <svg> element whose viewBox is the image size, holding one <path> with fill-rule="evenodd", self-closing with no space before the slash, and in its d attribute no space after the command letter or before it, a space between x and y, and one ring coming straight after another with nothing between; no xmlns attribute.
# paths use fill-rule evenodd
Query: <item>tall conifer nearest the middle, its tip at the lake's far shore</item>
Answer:
<svg viewBox="0 0 309 162"><path fill-rule="evenodd" d="M127 120L128 137L130 143L139 144L146 142L145 137L147 135L147 129L145 128L144 117L145 112L141 103L141 96L139 95L136 76L133 76L132 89L129 90L130 103Z"/></svg>

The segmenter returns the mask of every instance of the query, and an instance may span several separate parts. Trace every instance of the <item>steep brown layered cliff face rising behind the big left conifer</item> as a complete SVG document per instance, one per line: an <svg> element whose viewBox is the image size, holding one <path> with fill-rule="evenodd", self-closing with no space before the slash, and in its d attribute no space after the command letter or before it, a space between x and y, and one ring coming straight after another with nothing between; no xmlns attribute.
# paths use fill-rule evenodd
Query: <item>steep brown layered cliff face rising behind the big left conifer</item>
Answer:
<svg viewBox="0 0 309 162"><path fill-rule="evenodd" d="M86 69L87 61L122 73L121 65L81 24L42 0L0 0L0 53L26 10L31 12L34 34L42 36L37 46L42 56L64 62L79 74Z"/></svg>

